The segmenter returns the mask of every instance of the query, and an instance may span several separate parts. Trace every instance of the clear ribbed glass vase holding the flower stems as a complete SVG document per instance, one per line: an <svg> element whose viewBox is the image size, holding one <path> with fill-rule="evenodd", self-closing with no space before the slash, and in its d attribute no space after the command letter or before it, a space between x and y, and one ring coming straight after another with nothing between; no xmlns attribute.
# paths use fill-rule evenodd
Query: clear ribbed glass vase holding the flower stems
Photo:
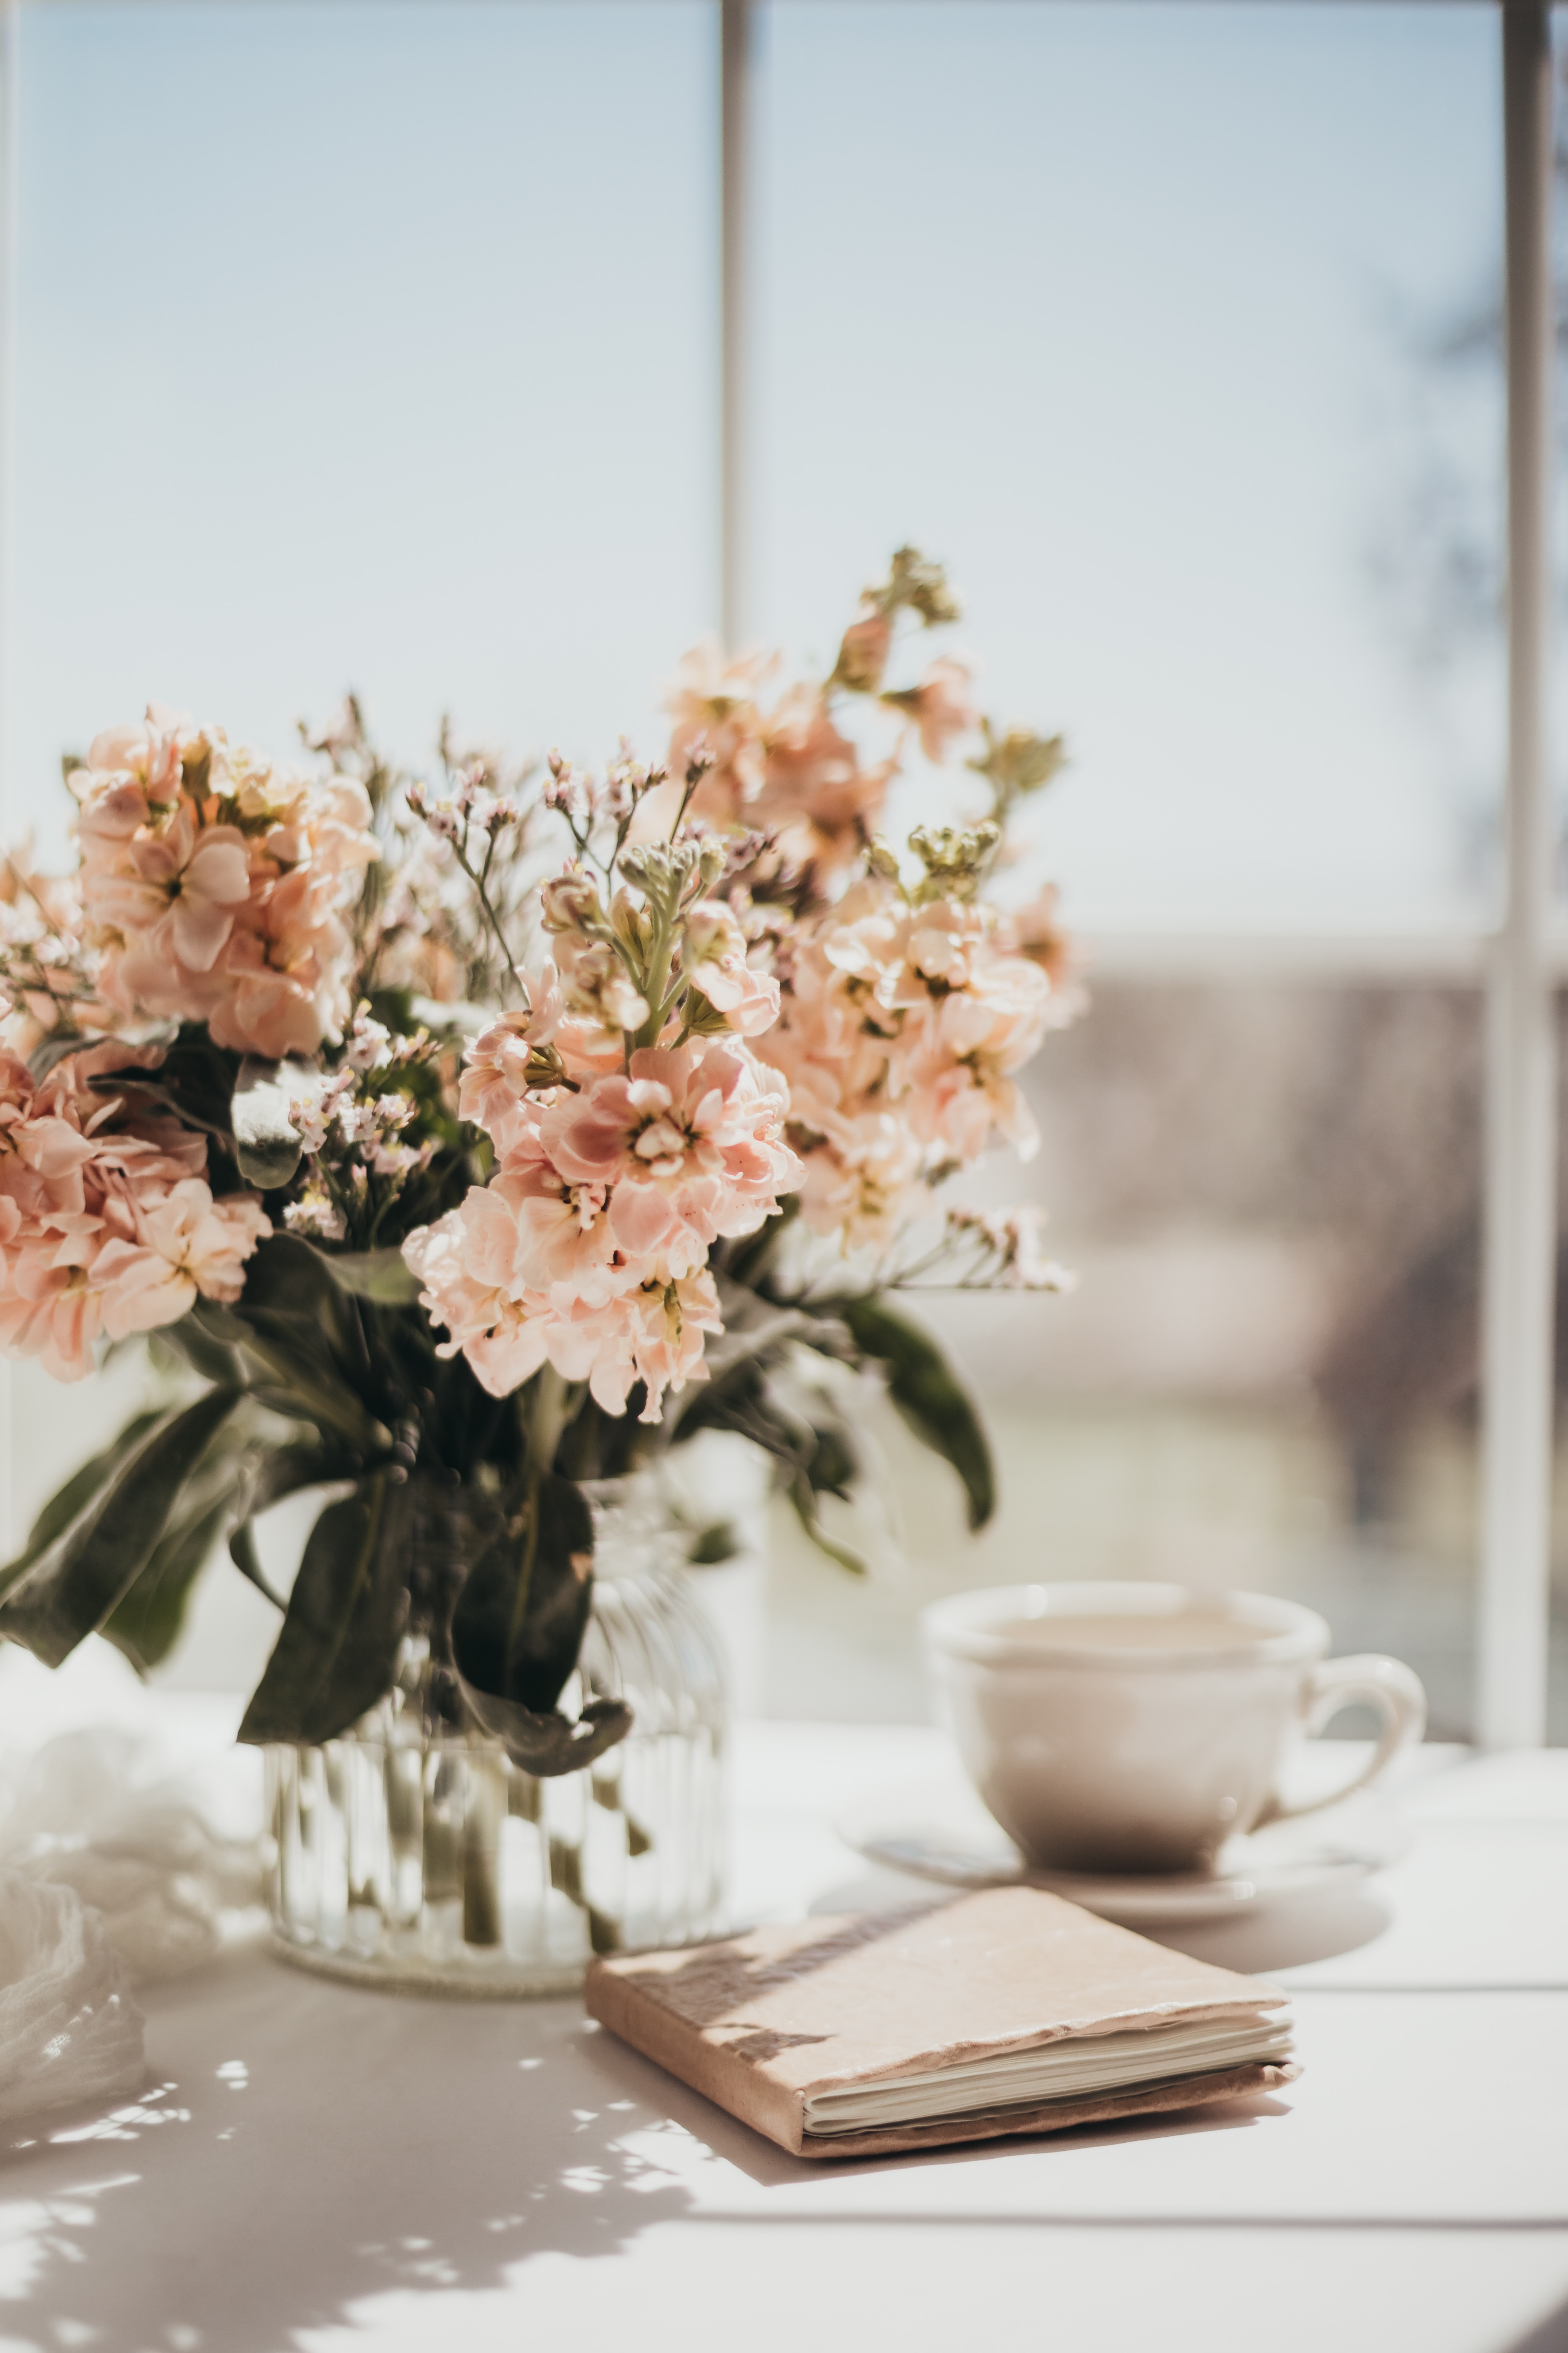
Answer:
<svg viewBox="0 0 1568 2353"><path fill-rule="evenodd" d="M719 1640L656 1487L585 1492L592 1617L559 1704L628 1699L628 1739L536 1779L482 1732L430 1729L407 1645L397 1689L350 1732L266 1751L268 1906L289 1960L409 1991L562 1993L590 1953L719 1925Z"/></svg>

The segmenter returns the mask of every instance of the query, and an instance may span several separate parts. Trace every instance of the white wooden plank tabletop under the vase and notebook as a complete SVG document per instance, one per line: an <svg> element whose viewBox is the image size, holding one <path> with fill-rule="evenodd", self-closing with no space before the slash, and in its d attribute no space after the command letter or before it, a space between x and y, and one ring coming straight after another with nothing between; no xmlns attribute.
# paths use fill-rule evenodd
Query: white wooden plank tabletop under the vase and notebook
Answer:
<svg viewBox="0 0 1568 2353"><path fill-rule="evenodd" d="M832 1821L945 1765L926 1729L738 1727L738 1911L907 1901ZM1291 1988L1286 2094L898 2160L788 2158L578 2000L240 1946L146 1991L141 2101L0 2134L0 2346L1559 2353L1568 1751L1422 1751L1399 1802L1380 1880L1180 1937Z"/></svg>

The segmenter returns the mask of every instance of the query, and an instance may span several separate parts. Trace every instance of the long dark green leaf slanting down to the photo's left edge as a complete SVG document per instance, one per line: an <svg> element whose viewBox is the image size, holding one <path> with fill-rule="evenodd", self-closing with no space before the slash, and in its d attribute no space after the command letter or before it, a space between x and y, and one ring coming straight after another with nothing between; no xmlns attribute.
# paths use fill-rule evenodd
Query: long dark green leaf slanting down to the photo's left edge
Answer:
<svg viewBox="0 0 1568 2353"><path fill-rule="evenodd" d="M181 1487L228 1414L233 1388L209 1388L162 1417L99 1494L16 1577L0 1605L0 1633L59 1666L94 1633L141 1577Z"/></svg>

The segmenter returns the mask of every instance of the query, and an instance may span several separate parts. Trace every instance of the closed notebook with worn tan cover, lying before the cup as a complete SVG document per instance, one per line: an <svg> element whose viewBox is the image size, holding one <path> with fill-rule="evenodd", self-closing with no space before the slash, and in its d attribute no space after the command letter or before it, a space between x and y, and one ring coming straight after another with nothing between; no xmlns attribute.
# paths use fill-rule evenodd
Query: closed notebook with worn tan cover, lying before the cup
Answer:
<svg viewBox="0 0 1568 2353"><path fill-rule="evenodd" d="M1272 2092L1286 1995L1039 1887L625 1953L588 2012L802 2158L863 2158Z"/></svg>

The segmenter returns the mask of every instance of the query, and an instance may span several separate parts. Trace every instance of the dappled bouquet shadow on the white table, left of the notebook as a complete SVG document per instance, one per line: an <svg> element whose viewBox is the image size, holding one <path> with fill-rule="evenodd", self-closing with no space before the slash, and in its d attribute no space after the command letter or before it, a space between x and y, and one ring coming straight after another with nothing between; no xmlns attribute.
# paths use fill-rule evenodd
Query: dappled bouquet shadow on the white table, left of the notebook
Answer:
<svg viewBox="0 0 1568 2353"><path fill-rule="evenodd" d="M421 2002L249 1955L146 2009L139 2101L0 2127L7 2346L280 2353L693 2205L701 2151L585 2066L576 2002Z"/></svg>

